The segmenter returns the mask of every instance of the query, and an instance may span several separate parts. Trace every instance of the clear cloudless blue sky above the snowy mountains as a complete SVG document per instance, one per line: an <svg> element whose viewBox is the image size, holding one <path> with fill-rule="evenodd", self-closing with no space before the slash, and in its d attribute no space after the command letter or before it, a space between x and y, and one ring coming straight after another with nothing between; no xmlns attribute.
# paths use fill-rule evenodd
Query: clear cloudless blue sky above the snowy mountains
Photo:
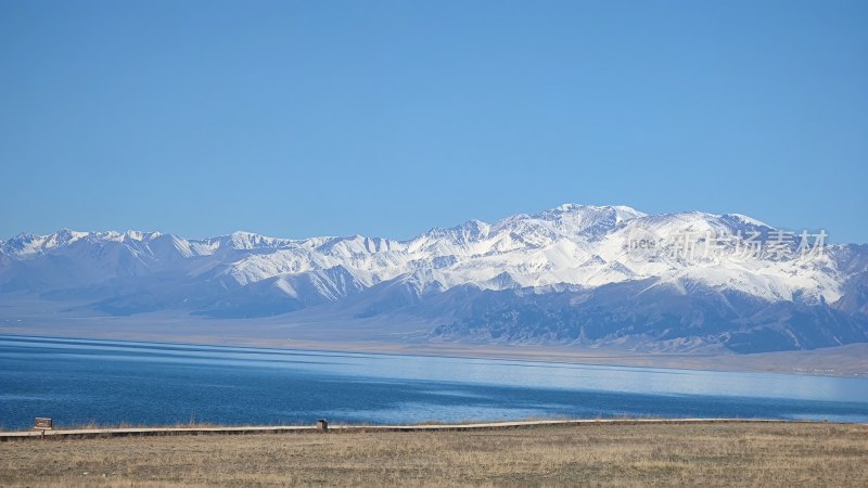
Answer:
<svg viewBox="0 0 868 488"><path fill-rule="evenodd" d="M0 1L0 239L565 202L868 242L866 1Z"/></svg>

